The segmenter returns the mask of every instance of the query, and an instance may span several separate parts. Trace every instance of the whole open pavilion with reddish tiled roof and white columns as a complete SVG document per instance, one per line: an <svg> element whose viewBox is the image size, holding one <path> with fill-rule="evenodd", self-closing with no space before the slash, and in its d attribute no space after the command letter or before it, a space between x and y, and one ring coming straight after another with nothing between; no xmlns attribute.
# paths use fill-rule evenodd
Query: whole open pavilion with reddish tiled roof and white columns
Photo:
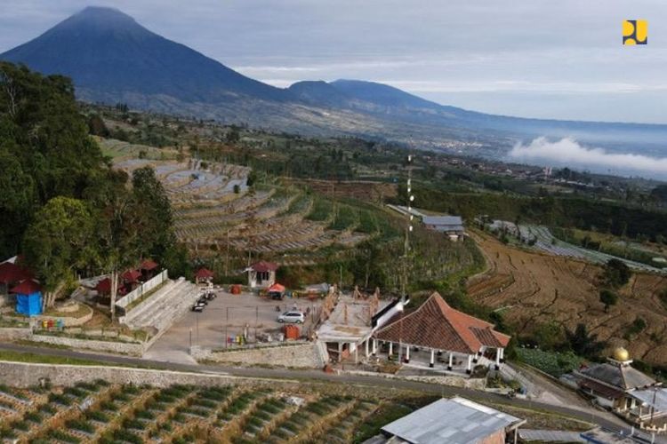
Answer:
<svg viewBox="0 0 667 444"><path fill-rule="evenodd" d="M494 352L495 365L503 361L504 348L510 337L494 329L494 325L449 306L437 292L433 293L419 308L400 312L374 332L373 350L377 341L389 344L389 354L398 345L399 359L405 352L404 361L410 361L410 349L430 351L430 367L435 366L435 355L448 353L447 369L454 366L454 355L467 357L467 373L472 364L485 353Z"/></svg>

